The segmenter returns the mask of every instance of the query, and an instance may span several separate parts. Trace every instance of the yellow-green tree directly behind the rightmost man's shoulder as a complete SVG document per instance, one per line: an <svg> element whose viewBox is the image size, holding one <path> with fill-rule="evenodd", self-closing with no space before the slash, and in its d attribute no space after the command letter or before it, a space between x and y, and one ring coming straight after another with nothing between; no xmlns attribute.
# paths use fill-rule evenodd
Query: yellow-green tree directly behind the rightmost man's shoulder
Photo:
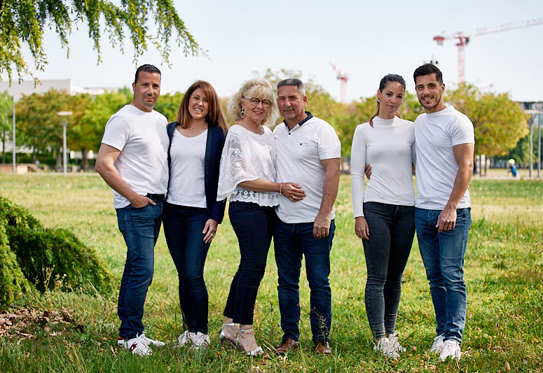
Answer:
<svg viewBox="0 0 543 373"><path fill-rule="evenodd" d="M447 92L446 101L472 120L476 155L506 155L528 134L526 114L507 93L481 92L462 83Z"/></svg>

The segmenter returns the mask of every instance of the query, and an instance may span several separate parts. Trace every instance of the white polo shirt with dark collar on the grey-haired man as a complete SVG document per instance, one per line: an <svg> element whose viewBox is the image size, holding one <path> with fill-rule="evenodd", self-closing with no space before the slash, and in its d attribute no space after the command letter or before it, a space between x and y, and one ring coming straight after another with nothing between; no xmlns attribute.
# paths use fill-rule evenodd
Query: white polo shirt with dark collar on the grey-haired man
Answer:
<svg viewBox="0 0 543 373"><path fill-rule="evenodd" d="M321 160L341 157L341 142L334 127L311 117L289 131L280 123L273 130L277 146L277 181L301 185L305 197L292 202L279 196L277 216L284 223L312 223L319 213L323 195L324 167ZM332 209L331 218L336 218Z"/></svg>

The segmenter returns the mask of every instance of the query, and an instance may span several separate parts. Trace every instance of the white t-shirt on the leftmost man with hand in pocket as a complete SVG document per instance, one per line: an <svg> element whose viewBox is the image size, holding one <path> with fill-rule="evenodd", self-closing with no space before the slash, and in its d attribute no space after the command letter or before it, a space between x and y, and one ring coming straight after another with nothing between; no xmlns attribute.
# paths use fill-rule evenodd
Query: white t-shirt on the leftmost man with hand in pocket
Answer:
<svg viewBox="0 0 543 373"><path fill-rule="evenodd" d="M121 178L139 195L163 195L167 189L166 117L158 111L141 111L125 105L106 123L102 143L121 150L114 163ZM114 207L130 201L114 190Z"/></svg>

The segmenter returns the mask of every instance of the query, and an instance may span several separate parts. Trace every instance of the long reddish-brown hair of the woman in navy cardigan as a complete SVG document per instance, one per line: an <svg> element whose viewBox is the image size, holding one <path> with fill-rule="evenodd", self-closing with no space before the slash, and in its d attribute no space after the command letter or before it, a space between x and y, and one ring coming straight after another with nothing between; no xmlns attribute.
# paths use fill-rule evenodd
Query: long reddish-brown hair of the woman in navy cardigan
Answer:
<svg viewBox="0 0 543 373"><path fill-rule="evenodd" d="M181 128L186 128L191 123L191 114L188 112L189 99L191 99L191 94L195 90L200 88L204 91L205 97L207 97L207 104L209 106L209 111L205 115L205 121L208 125L220 127L224 134L228 132L228 125L226 124L226 116L224 115L221 103L219 102L219 97L217 96L213 86L207 83L204 80L195 81L181 99L181 104L179 105L179 111L177 111L177 122L181 125Z"/></svg>

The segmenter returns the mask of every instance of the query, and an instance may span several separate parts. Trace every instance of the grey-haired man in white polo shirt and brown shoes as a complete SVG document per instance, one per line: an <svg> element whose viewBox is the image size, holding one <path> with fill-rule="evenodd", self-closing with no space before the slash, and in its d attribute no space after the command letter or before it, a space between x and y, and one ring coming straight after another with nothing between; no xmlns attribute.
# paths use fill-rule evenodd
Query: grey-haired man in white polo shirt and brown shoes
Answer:
<svg viewBox="0 0 543 373"><path fill-rule="evenodd" d="M310 323L315 352L331 353L330 250L334 238L334 201L338 193L341 143L334 128L304 111L308 98L299 79L277 84L277 104L284 122L273 130L277 146L277 181L301 185L305 197L279 197L273 230L279 276L282 344L277 353L298 349L302 256L310 287Z"/></svg>

